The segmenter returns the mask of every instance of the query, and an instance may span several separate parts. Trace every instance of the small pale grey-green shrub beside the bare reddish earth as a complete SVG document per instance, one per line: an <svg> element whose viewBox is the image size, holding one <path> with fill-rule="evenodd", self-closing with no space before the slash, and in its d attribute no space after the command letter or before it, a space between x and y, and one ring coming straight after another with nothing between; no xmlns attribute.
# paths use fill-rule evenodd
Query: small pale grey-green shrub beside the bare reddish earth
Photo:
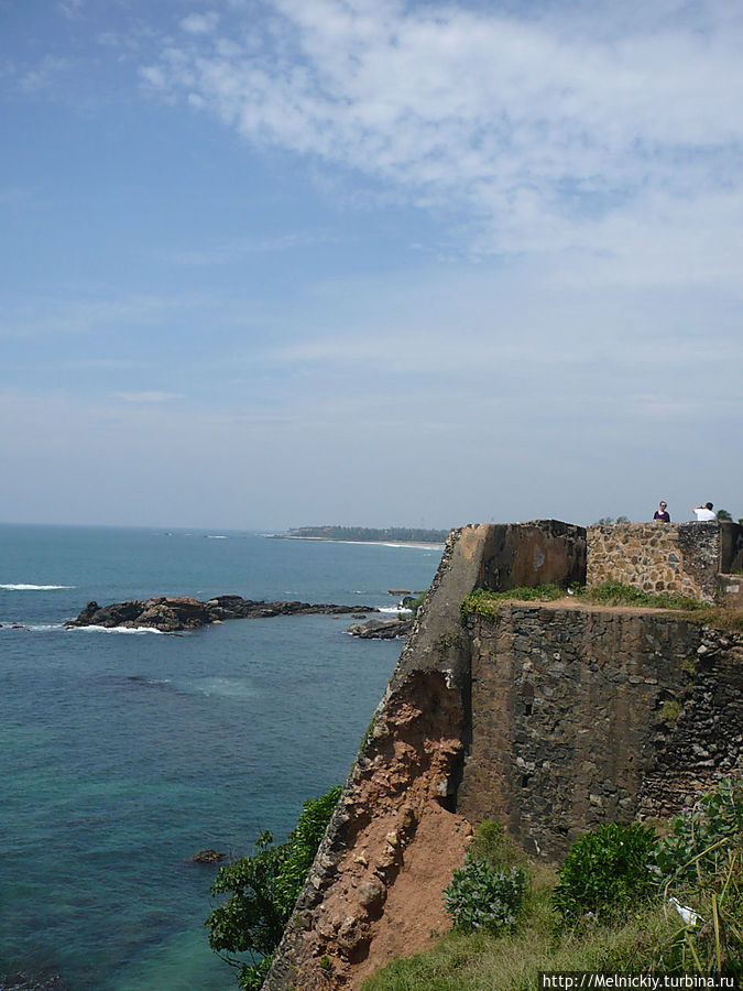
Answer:
<svg viewBox="0 0 743 991"><path fill-rule="evenodd" d="M525 890L522 868L499 869L469 856L444 892L444 907L462 933L496 933L515 923Z"/></svg>

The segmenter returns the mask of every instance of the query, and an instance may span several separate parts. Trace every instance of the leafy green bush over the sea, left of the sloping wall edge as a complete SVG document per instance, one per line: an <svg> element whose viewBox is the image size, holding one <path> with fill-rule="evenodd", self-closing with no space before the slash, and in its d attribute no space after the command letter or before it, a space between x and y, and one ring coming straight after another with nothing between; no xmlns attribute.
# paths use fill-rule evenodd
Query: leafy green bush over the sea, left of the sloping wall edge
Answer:
<svg viewBox="0 0 743 991"><path fill-rule="evenodd" d="M209 945L237 968L238 982L247 991L258 991L263 983L340 792L337 785L321 798L305 802L286 842L274 845L273 836L263 832L252 857L217 874L211 893L229 897L205 923ZM234 954L247 954L248 960Z"/></svg>

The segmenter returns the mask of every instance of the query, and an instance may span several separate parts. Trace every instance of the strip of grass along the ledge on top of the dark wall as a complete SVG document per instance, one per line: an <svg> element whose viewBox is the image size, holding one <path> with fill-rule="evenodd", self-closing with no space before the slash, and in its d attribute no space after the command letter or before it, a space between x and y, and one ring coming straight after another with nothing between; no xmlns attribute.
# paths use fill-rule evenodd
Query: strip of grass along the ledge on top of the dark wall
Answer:
<svg viewBox="0 0 743 991"><path fill-rule="evenodd" d="M714 606L698 602L684 596L671 596L667 592L646 592L633 585L621 581L604 581L590 588L572 586L570 590L557 585L536 585L534 587L512 588L507 591L493 592L478 588L471 592L460 606L462 625L471 614L494 619L499 607L507 601L555 602L568 599L571 602L584 602L588 606L630 606L634 608L663 609L678 614L679 619L703 623L722 630L743 630L743 611L730 606Z"/></svg>

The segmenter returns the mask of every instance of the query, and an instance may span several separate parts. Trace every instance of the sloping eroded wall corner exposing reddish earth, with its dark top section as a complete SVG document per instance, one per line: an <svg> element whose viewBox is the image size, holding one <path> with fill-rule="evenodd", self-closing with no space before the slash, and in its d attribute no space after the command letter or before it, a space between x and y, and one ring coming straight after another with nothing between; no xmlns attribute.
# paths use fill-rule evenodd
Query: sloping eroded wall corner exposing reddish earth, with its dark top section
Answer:
<svg viewBox="0 0 743 991"><path fill-rule="evenodd" d="M451 532L264 991L356 988L446 927L441 892L469 830L454 808L471 721L460 603L481 586L565 585L584 580L584 570L580 526L549 520Z"/></svg>

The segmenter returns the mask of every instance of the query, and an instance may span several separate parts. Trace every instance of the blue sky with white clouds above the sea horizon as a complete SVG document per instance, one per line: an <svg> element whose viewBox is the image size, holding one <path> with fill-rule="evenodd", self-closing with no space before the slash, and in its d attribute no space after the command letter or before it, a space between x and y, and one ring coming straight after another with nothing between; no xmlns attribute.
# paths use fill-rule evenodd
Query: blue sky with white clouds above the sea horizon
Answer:
<svg viewBox="0 0 743 991"><path fill-rule="evenodd" d="M743 515L740 0L0 0L0 520Z"/></svg>

